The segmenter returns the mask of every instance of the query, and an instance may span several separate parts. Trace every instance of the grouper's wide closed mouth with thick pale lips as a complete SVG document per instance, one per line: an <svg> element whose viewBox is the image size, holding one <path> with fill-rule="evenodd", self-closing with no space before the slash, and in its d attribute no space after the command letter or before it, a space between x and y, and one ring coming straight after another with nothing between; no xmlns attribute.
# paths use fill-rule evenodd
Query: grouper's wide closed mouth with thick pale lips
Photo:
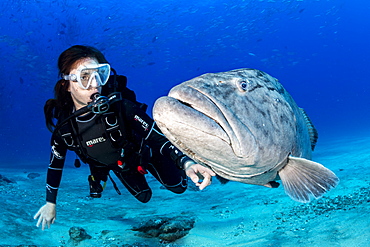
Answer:
<svg viewBox="0 0 370 247"><path fill-rule="evenodd" d="M155 110L156 107L161 110ZM182 137L189 136L191 131L194 142L199 140L199 145L212 142L220 149L231 148L237 157L247 155L246 136L250 139L252 135L246 135L240 130L246 132L248 128L230 106L204 90L189 85L174 87L168 97L156 101L153 115L159 125L161 121L165 123L169 132L166 135L172 136L170 139L176 140L188 152L192 152L192 145Z"/></svg>

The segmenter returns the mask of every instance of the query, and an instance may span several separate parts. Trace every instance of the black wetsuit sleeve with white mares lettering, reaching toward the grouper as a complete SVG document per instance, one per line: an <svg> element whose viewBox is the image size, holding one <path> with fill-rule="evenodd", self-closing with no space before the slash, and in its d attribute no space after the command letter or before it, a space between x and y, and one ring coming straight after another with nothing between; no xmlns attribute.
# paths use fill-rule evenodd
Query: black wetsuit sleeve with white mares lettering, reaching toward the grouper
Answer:
<svg viewBox="0 0 370 247"><path fill-rule="evenodd" d="M184 169L195 162L171 144L160 131L154 120L141 110L135 103L123 100L126 122L129 127L142 136L153 152L171 158L175 164Z"/></svg>

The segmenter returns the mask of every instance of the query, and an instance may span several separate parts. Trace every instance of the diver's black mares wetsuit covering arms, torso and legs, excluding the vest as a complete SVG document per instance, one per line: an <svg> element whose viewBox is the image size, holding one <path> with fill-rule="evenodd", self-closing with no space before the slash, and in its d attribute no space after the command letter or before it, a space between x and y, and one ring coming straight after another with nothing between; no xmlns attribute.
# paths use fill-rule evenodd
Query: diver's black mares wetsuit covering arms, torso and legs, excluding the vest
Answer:
<svg viewBox="0 0 370 247"><path fill-rule="evenodd" d="M140 107L125 99L119 102L121 103L124 114L108 112L109 116L120 115L125 128L135 133L138 140L145 141L150 152L149 162L145 168L170 191L183 193L187 187L187 177L180 168L190 159L167 140L155 122ZM107 175L112 170L135 198L141 202L148 202L152 191L145 176L137 170L134 164L129 164L125 169L117 165L117 160L123 156L122 152L127 152L127 150L114 148L102 125L96 124L104 118L103 121L107 122L108 126L114 127L115 118L109 117L113 120L107 120L106 116L90 113L73 120L78 129L79 143L84 152L89 155L86 162L90 166L91 174L98 181L107 181ZM59 134L52 136L51 143L52 153L47 173L46 201L56 203L66 152L71 148L68 146L70 143ZM81 153L79 156L81 157Z"/></svg>

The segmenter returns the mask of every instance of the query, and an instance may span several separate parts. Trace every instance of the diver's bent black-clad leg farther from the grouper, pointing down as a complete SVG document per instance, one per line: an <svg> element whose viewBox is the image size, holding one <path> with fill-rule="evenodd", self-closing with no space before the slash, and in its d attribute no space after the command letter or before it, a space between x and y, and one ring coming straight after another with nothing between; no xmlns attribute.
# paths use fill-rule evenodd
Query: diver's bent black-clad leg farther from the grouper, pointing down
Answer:
<svg viewBox="0 0 370 247"><path fill-rule="evenodd" d="M126 189L140 202L146 203L152 197L152 190L146 182L145 176L136 171L115 171L114 174L121 180Z"/></svg>

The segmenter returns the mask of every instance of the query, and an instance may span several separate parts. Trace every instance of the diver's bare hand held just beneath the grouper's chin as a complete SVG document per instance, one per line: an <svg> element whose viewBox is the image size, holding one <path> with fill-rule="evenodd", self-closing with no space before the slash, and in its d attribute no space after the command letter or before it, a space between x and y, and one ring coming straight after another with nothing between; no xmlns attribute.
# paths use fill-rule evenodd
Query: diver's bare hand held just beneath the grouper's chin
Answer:
<svg viewBox="0 0 370 247"><path fill-rule="evenodd" d="M210 185L212 182L212 176L216 176L216 173L211 169L199 164L190 165L185 169L185 172L200 190L203 190L205 187Z"/></svg>

